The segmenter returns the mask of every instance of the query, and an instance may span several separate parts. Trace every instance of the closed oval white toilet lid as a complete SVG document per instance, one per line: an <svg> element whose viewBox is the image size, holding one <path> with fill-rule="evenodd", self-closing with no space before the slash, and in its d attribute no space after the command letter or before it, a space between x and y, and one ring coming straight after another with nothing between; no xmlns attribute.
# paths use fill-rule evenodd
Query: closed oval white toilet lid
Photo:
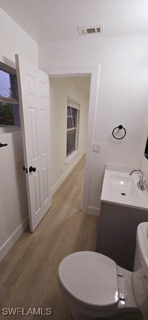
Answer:
<svg viewBox="0 0 148 320"><path fill-rule="evenodd" d="M72 253L61 261L58 275L63 287L81 302L102 307L118 303L116 263L103 254Z"/></svg>

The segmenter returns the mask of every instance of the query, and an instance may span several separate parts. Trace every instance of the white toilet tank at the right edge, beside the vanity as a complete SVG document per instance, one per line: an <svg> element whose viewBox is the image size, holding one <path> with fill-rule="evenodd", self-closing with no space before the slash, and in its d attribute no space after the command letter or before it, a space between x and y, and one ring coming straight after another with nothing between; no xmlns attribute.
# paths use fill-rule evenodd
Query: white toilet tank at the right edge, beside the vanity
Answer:
<svg viewBox="0 0 148 320"><path fill-rule="evenodd" d="M148 222L137 227L132 285L136 303L148 319Z"/></svg>

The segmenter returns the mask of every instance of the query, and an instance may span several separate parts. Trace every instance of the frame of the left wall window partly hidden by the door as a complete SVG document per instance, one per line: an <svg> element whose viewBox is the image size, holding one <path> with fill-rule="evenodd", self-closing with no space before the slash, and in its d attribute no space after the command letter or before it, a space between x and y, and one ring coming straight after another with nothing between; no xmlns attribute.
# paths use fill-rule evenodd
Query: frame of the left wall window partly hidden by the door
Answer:
<svg viewBox="0 0 148 320"><path fill-rule="evenodd" d="M18 105L18 115L19 115L19 124L18 125L16 125L16 124L0 125L0 132L5 131L4 128L12 128L12 131L15 131L15 128L17 128L16 129L16 131L17 131L18 128L20 130L20 114L19 114L19 100L18 100L18 88L17 88L16 70L14 68L12 68L11 66L9 66L7 64L4 64L2 62L0 62L0 70L14 75L15 91L16 91L16 99L0 96L0 102L17 104Z"/></svg>

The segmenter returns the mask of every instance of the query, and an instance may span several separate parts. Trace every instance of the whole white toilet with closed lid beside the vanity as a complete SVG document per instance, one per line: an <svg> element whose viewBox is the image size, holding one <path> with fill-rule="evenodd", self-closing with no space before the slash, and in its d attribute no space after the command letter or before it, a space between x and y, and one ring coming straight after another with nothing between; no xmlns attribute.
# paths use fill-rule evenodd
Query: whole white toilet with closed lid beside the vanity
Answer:
<svg viewBox="0 0 148 320"><path fill-rule="evenodd" d="M75 320L126 312L148 319L148 222L137 227L133 272L103 254L80 251L61 261L58 282Z"/></svg>

